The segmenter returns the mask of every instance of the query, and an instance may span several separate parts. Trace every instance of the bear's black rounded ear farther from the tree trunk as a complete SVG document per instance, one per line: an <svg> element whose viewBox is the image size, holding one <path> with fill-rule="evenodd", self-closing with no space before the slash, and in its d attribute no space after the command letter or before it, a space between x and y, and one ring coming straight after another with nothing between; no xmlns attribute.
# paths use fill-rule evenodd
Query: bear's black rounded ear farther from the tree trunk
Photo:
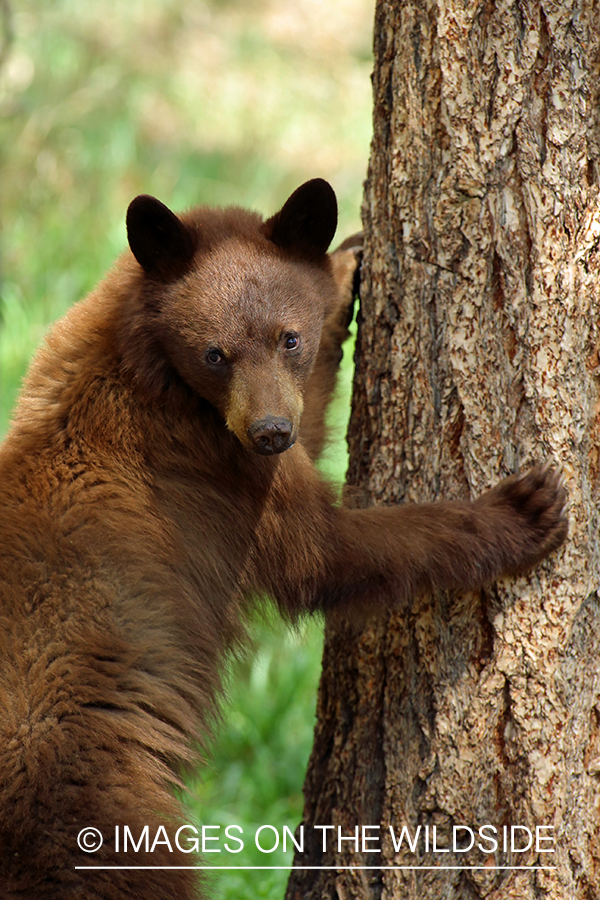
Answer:
<svg viewBox="0 0 600 900"><path fill-rule="evenodd" d="M127 239L144 272L161 281L183 275L196 250L193 232L164 203L147 194L129 204Z"/></svg>

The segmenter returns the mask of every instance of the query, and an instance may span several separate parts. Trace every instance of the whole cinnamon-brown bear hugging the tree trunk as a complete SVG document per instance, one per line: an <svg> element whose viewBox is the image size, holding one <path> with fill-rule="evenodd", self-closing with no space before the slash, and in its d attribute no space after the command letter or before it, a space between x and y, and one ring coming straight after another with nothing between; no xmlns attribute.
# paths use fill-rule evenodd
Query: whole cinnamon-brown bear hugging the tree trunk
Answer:
<svg viewBox="0 0 600 900"><path fill-rule="evenodd" d="M266 221L138 197L132 252L33 362L0 449L4 900L194 895L189 870L139 868L189 855L124 857L115 826L182 824L172 788L253 595L290 617L402 608L565 538L548 468L473 503L336 505L312 464L352 280L336 219L320 179Z"/></svg>

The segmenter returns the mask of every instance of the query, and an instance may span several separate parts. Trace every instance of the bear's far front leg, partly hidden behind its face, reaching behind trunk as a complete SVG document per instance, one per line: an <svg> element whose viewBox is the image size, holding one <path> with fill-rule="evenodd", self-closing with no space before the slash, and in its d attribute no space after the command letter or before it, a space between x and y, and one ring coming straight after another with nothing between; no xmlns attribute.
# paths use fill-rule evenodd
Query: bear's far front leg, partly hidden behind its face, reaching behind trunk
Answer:
<svg viewBox="0 0 600 900"><path fill-rule="evenodd" d="M342 344L349 335L361 252L362 234L355 234L330 257L339 302L323 323L319 352L304 394L300 424L300 440L312 460L318 459L325 443L325 416L342 361Z"/></svg>

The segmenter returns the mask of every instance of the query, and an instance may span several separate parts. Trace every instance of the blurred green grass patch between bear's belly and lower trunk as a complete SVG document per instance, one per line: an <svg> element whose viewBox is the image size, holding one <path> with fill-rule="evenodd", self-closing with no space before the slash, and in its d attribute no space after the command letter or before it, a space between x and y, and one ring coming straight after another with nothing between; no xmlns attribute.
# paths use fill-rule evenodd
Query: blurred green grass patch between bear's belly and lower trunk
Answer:
<svg viewBox="0 0 600 900"><path fill-rule="evenodd" d="M225 900L239 897L281 897L285 869L245 871L243 866L287 866L293 845L273 853L261 852L255 834L272 826L281 835L293 833L302 811L302 780L314 727L315 690L321 654L321 630L310 623L300 633L281 623L258 621L254 634L259 653L232 667L225 704L225 727L211 763L190 786L188 800L199 824L221 826L219 854L205 854L207 865L232 866L237 871L211 873L210 893ZM244 848L224 849L224 829L237 825ZM273 846L274 834L264 832L262 847ZM236 848L238 845L230 843Z"/></svg>

